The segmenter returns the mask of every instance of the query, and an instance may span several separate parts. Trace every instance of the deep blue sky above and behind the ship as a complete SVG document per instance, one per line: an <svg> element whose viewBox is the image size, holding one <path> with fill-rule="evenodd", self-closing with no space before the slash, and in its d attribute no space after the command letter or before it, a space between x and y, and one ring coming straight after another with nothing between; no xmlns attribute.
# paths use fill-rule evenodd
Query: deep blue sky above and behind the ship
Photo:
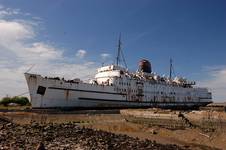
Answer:
<svg viewBox="0 0 226 150"><path fill-rule="evenodd" d="M131 70L136 70L139 59L147 58L155 72L168 74L171 57L176 75L197 80L214 91L215 99L226 100L225 0L0 0L0 6L4 25L16 22L28 31L28 35L23 33L24 39L19 39L20 47L30 49L29 52L41 47L42 52L50 52L48 56L54 54L54 59L43 60L47 63L44 66L49 66L45 68L48 71L54 70L54 64L61 67L74 64L75 70L83 67L84 73L79 74L82 77L90 67L96 68L103 61L113 62L121 32ZM8 13L1 13L3 11ZM6 48L2 45L1 48ZM12 50L0 52L4 52L4 58L12 56ZM20 60L18 52L13 51L13 55L16 55L15 61L2 68L21 63L17 68L12 67L20 72L31 64L39 65L26 58ZM36 71L47 73L41 69L42 65L36 67ZM53 74L62 75L59 72L56 70ZM8 70L6 74L10 73ZM67 72L67 75L73 73ZM75 72L75 75L78 74Z"/></svg>

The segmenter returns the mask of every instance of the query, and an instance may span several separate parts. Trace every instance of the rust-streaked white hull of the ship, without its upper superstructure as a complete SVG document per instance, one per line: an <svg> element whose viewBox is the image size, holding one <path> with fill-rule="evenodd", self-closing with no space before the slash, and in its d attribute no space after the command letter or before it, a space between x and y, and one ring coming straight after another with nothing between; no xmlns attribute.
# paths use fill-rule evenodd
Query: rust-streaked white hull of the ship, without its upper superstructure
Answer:
<svg viewBox="0 0 226 150"><path fill-rule="evenodd" d="M143 85L143 95L139 95L139 86L130 81L123 86L70 82L62 79L44 78L40 75L25 73L32 108L117 108L117 107L198 107L211 103L206 91L194 88L170 87L167 85ZM134 84L134 85L133 85ZM149 90L147 90L147 87ZM135 90L133 90L133 88ZM172 90L173 88L173 90ZM137 90L136 90L137 89ZM178 95L161 95L159 91L180 91ZM181 92L182 91L182 92ZM193 92L193 93L192 93ZM153 94L153 93L158 93ZM189 96L185 93L189 93ZM174 93L175 94L175 93Z"/></svg>

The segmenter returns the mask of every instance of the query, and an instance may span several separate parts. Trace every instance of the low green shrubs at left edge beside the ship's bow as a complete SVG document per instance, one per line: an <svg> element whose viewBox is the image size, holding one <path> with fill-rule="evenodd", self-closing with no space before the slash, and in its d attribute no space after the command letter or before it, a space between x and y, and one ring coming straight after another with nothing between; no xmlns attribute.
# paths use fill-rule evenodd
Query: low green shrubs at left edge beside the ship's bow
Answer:
<svg viewBox="0 0 226 150"><path fill-rule="evenodd" d="M16 104L19 104L21 106L24 106L24 105L30 105L30 102L28 100L27 97L18 97L18 96L15 96L15 97L4 97L1 101L0 101L0 104L4 105L4 106L7 106L9 103L16 103Z"/></svg>

